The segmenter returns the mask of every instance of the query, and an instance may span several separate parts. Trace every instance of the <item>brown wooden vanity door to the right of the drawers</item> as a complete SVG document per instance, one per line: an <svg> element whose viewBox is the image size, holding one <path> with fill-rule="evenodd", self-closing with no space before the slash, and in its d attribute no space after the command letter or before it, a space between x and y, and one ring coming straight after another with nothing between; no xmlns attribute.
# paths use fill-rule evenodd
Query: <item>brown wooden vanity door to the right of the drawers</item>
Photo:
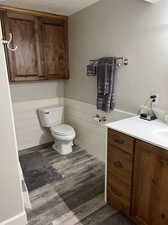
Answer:
<svg viewBox="0 0 168 225"><path fill-rule="evenodd" d="M133 180L134 219L142 225L167 225L168 152L137 141Z"/></svg>

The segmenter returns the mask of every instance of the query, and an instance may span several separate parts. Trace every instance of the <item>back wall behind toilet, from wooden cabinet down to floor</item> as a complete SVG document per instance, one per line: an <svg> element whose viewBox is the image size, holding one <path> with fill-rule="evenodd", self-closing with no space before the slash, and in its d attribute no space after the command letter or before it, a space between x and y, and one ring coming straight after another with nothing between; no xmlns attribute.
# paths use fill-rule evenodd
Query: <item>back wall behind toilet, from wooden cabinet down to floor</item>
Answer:
<svg viewBox="0 0 168 225"><path fill-rule="evenodd" d="M64 82L41 81L10 84L18 149L52 141L50 132L40 126L37 109L63 104Z"/></svg>

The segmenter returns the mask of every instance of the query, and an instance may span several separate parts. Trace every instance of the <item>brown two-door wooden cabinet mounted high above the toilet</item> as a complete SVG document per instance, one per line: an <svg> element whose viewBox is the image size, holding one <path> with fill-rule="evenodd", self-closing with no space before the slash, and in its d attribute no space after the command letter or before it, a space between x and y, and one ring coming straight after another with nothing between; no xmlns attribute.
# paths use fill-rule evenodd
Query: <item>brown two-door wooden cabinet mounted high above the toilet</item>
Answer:
<svg viewBox="0 0 168 225"><path fill-rule="evenodd" d="M3 10L4 39L12 34L13 47L5 47L10 81L68 79L67 17Z"/></svg>

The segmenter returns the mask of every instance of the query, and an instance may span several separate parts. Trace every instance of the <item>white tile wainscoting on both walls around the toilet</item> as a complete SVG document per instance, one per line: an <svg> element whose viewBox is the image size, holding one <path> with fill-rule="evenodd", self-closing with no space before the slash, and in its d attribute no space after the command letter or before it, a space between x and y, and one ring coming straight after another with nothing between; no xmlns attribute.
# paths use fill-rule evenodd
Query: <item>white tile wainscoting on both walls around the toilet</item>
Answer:
<svg viewBox="0 0 168 225"><path fill-rule="evenodd" d="M13 103L18 149L24 150L52 141L50 132L40 126L37 109L51 105L65 106L65 122L72 125L77 133L75 143L87 149L98 159L105 160L106 127L98 124L96 114L107 117L107 122L134 116L134 114L114 110L106 114L97 111L96 106L69 98L51 98Z"/></svg>

